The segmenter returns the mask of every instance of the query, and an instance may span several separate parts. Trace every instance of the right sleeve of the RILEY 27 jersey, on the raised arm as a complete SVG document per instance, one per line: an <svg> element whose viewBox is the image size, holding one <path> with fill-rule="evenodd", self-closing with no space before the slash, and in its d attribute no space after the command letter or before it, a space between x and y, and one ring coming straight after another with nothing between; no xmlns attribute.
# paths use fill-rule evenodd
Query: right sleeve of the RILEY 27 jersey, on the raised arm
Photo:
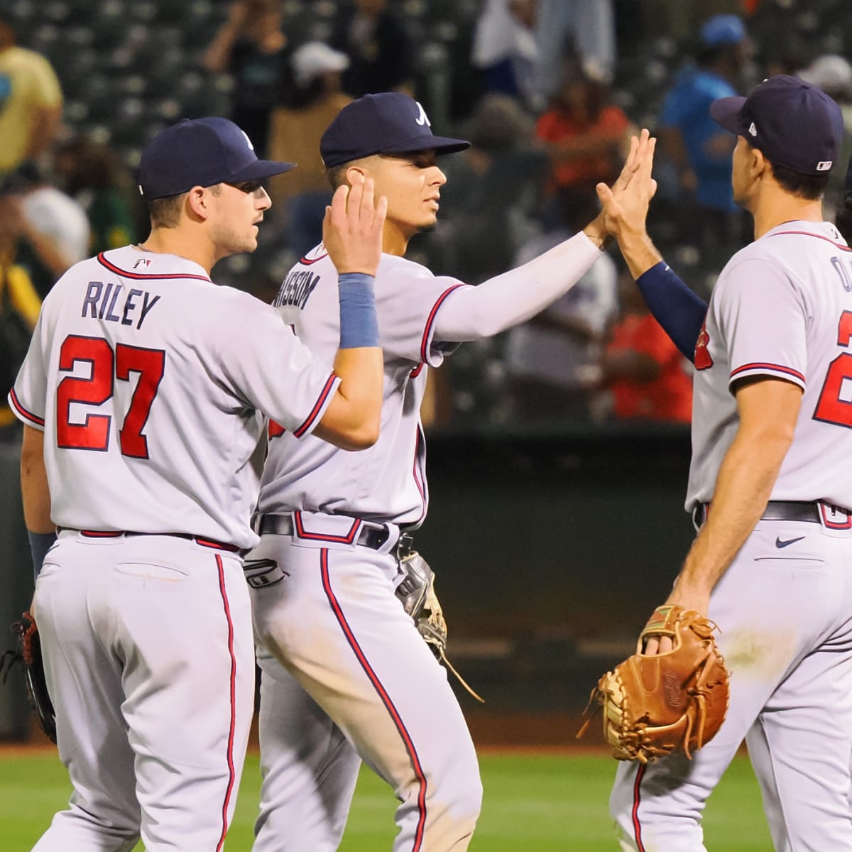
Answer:
<svg viewBox="0 0 852 852"><path fill-rule="evenodd" d="M320 422L340 379L299 341L275 308L251 296L222 345L222 371L233 393L297 438Z"/></svg>

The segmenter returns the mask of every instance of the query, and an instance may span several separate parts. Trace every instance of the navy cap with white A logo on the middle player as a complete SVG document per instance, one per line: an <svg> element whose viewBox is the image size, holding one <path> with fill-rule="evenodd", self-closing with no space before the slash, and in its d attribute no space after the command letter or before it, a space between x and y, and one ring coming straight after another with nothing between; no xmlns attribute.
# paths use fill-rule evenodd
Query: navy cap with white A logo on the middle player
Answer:
<svg viewBox="0 0 852 852"><path fill-rule="evenodd" d="M469 148L463 139L435 136L423 107L402 92L364 95L337 113L320 139L326 169L373 154Z"/></svg>

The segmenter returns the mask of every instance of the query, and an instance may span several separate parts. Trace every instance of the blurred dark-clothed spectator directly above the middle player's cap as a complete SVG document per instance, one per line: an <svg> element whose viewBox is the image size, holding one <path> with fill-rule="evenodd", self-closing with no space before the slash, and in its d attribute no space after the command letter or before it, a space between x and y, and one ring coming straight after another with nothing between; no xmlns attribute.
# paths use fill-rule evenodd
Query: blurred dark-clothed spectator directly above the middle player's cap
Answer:
<svg viewBox="0 0 852 852"><path fill-rule="evenodd" d="M355 0L344 13L331 44L348 55L343 90L354 98L374 92L413 95L414 46L406 27L388 9L388 0Z"/></svg>

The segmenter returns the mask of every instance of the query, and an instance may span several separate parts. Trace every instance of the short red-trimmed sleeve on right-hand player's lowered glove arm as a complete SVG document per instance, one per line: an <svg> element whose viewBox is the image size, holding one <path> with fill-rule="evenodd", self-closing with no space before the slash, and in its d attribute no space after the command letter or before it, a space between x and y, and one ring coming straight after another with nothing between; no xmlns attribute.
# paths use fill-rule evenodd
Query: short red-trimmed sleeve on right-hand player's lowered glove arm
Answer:
<svg viewBox="0 0 852 852"><path fill-rule="evenodd" d="M750 257L717 282L711 302L728 350L729 383L750 376L805 386L809 308L802 288L780 263Z"/></svg>

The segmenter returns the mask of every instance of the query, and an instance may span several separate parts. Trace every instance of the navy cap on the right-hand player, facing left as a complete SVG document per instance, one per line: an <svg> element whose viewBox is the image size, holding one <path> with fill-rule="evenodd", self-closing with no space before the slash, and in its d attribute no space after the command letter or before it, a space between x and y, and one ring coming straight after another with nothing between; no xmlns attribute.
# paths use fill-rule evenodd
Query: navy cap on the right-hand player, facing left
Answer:
<svg viewBox="0 0 852 852"><path fill-rule="evenodd" d="M837 162L843 113L825 92L800 78L770 77L747 98L713 101L710 114L775 165L802 175L826 175Z"/></svg>

